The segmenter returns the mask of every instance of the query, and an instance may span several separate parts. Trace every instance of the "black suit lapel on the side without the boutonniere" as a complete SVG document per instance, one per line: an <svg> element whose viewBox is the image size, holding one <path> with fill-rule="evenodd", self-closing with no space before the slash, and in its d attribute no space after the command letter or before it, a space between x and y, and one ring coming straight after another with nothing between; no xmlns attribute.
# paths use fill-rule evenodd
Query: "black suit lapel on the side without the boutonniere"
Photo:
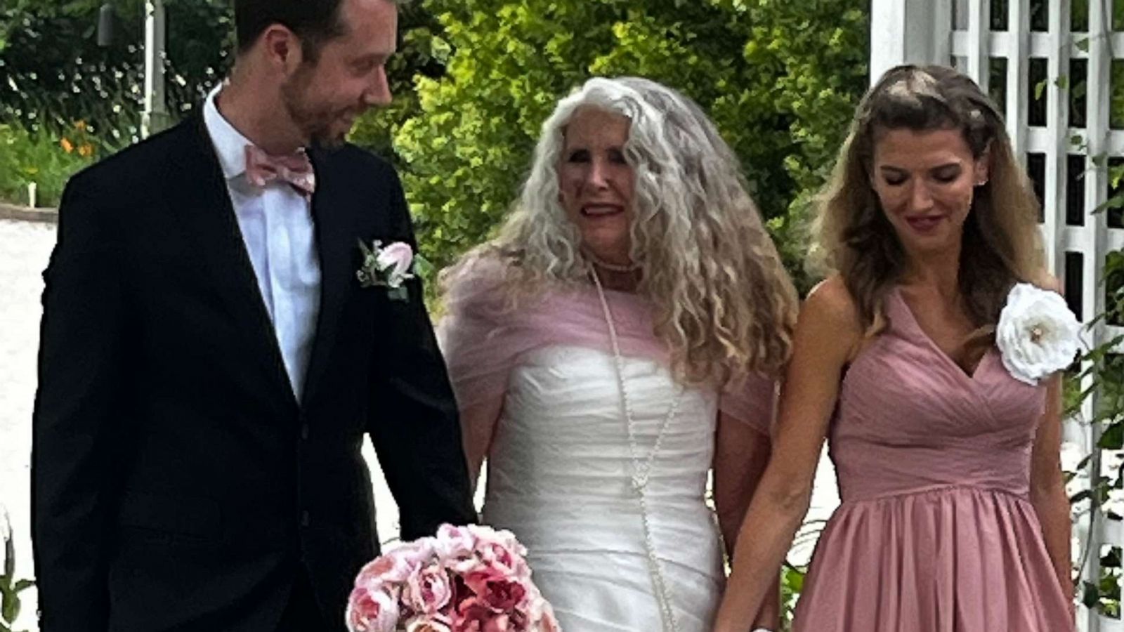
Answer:
<svg viewBox="0 0 1124 632"><path fill-rule="evenodd" d="M169 178L169 207L196 242L196 252L209 272L208 286L227 306L230 317L247 336L250 354L288 404L297 399L278 346L273 323L257 286L257 277L234 214L226 179L202 116L182 124L184 151L174 156L176 170Z"/></svg>

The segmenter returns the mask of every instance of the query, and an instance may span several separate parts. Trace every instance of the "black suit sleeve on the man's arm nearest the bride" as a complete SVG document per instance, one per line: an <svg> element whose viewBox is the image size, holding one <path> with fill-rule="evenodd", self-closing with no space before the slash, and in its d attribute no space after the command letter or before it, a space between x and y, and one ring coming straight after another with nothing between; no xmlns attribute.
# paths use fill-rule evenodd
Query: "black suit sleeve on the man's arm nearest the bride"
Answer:
<svg viewBox="0 0 1124 632"><path fill-rule="evenodd" d="M417 250L406 199L391 172L391 213L397 235ZM379 463L398 503L401 536L432 535L442 523L478 520L461 442L456 401L419 280L407 282L409 300L395 303L400 320L383 337L386 353L372 358L368 428ZM392 334L389 332L393 332Z"/></svg>

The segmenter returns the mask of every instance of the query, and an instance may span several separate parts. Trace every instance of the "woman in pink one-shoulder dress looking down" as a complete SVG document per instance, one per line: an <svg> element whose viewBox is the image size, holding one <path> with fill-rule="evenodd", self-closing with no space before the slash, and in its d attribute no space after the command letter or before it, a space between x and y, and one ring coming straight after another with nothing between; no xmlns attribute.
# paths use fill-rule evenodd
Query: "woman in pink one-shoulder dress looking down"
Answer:
<svg viewBox="0 0 1124 632"><path fill-rule="evenodd" d="M795 631L1072 630L1067 360L1050 345L1071 360L1077 323L1048 291L1037 202L995 105L953 70L890 70L822 200L818 252L834 274L801 310L715 632L750 629L772 579L761 569L788 551L825 436L843 503ZM1012 347L1024 296L1054 313ZM1049 327L1059 312L1071 327ZM1060 361L1028 374L1019 345Z"/></svg>

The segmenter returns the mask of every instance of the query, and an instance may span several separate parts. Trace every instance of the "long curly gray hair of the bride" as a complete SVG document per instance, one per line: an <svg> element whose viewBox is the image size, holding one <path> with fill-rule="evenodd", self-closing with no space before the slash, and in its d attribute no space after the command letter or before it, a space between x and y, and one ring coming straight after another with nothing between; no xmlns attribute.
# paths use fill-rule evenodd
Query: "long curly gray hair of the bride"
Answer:
<svg viewBox="0 0 1124 632"><path fill-rule="evenodd" d="M445 279L478 258L496 258L513 307L552 283L589 282L580 233L559 201L565 129L580 108L631 121L624 147L636 179L631 256L677 378L779 374L790 353L796 290L733 151L701 108L654 81L595 78L562 99L543 124L531 174L499 235Z"/></svg>

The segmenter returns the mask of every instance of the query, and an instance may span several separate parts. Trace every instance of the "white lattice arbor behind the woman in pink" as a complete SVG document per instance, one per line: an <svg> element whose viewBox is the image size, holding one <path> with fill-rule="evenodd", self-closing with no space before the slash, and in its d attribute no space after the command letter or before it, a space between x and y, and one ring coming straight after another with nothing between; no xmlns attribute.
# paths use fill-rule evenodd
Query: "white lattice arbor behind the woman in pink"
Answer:
<svg viewBox="0 0 1124 632"><path fill-rule="evenodd" d="M901 63L951 64L1003 106L1015 153L1042 198L1052 272L1086 322L1105 308L1106 254L1124 249L1124 218L1100 210L1115 193L1109 169L1124 164L1122 22L1124 0L873 0L871 6L871 81ZM1100 322L1091 337L1098 344L1121 333L1124 328ZM1081 417L1093 418L1096 406L1094 395ZM1093 452L1085 485L1120 467L1118 453L1095 449L1099 427L1071 419L1067 431L1069 440ZM1100 554L1124 542L1121 522L1085 512L1075 532L1079 549L1091 552L1082 579L1097 583ZM1096 608L1079 607L1078 625L1087 632L1124 631L1120 619Z"/></svg>

